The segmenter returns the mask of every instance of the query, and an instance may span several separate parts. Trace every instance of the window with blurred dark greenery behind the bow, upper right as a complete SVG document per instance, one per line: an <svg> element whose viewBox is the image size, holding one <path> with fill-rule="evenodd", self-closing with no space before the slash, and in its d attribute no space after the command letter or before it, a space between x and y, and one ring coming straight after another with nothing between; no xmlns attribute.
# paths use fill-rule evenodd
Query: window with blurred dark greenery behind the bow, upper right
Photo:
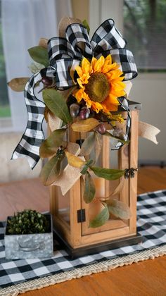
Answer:
<svg viewBox="0 0 166 296"><path fill-rule="evenodd" d="M143 72L166 72L166 1L124 0L124 37Z"/></svg>

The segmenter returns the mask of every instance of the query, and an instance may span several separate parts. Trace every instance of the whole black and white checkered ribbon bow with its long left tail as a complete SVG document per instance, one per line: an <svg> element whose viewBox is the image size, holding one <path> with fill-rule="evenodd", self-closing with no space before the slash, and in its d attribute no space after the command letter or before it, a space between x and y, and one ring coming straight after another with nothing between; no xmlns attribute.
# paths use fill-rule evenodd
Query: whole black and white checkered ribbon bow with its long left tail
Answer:
<svg viewBox="0 0 166 296"><path fill-rule="evenodd" d="M53 37L49 39L50 66L33 75L25 86L25 103L28 113L27 129L15 148L12 158L26 156L31 168L34 168L39 161L39 146L44 140L41 125L45 105L35 97L34 86L42 77L54 78L58 90L65 90L75 85L73 80L75 66L79 65L83 57L91 60L93 56L99 58L101 55L106 57L111 54L113 62L120 64L120 70L124 73L124 80L130 80L136 77L137 70L132 52L125 49L125 46L125 39L115 28L114 21L111 19L106 20L98 27L91 41L86 27L79 23L68 25L65 38ZM120 104L123 109L126 108L125 104L122 102ZM130 119L128 119L127 124L128 132Z"/></svg>

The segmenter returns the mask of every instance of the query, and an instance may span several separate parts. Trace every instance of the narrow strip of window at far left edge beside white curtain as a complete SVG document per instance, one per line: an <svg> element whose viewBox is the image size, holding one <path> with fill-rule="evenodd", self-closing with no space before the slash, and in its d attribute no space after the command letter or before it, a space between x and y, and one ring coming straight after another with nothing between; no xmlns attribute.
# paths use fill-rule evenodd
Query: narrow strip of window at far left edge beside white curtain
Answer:
<svg viewBox="0 0 166 296"><path fill-rule="evenodd" d="M11 117L6 82L5 59L2 42L1 1L0 1L0 120Z"/></svg>

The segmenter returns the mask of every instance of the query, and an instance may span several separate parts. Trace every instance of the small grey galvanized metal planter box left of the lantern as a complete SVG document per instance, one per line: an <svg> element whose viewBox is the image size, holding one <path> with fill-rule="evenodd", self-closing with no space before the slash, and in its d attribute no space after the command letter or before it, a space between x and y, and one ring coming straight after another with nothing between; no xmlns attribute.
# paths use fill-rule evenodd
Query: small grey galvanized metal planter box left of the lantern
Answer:
<svg viewBox="0 0 166 296"><path fill-rule="evenodd" d="M50 214L45 215L50 222L49 233L9 235L5 232L6 259L46 258L53 256L52 218ZM8 219L10 217L7 218L7 221Z"/></svg>

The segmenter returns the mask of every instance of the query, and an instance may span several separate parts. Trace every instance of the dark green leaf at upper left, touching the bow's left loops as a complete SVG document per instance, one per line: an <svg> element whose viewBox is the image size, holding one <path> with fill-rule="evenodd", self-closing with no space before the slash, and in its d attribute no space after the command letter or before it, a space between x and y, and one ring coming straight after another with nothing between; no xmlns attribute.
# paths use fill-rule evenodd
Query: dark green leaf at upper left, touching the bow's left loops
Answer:
<svg viewBox="0 0 166 296"><path fill-rule="evenodd" d="M45 67L49 66L49 54L44 47L31 47L28 49L31 58Z"/></svg>

